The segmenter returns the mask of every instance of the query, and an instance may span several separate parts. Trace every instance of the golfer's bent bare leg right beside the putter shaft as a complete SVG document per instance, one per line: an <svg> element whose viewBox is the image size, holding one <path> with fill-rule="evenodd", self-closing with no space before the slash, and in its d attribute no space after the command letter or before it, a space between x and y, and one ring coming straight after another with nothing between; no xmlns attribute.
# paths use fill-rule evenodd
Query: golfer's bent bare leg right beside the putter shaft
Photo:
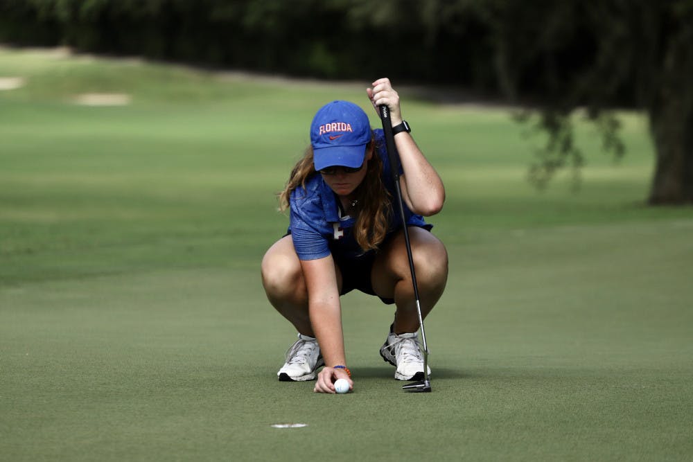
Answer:
<svg viewBox="0 0 693 462"><path fill-rule="evenodd" d="M443 243L425 229L410 226L409 237L421 298L421 316L433 309L448 280L448 253ZM412 274L407 258L404 233L400 232L383 248L371 273L373 288L379 296L394 299L396 304L394 332L416 332L419 316Z"/></svg>

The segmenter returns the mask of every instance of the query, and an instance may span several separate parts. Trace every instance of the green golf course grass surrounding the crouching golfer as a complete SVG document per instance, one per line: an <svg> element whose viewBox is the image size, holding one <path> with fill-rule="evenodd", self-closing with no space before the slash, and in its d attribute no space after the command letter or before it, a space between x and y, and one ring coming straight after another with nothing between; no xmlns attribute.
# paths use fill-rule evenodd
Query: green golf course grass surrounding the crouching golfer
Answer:
<svg viewBox="0 0 693 462"><path fill-rule="evenodd" d="M537 191L540 141L509 110L402 89L447 192L433 392L401 390L378 354L392 308L352 293L355 389L326 396L277 381L295 331L259 265L315 109L377 126L369 82L2 48L0 77L23 82L0 90L0 460L693 458L693 211L644 205L640 114L619 164L582 124L579 192L568 172Z"/></svg>

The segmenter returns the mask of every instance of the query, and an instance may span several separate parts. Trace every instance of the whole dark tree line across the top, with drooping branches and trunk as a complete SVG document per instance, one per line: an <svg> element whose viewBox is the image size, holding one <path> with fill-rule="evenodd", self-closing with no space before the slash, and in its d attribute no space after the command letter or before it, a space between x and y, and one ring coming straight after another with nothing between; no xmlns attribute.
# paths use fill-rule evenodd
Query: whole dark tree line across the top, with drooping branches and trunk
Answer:
<svg viewBox="0 0 693 462"><path fill-rule="evenodd" d="M540 105L534 123L550 141L538 184L583 161L567 114L585 108L618 157L618 122L602 109L640 109L656 152L647 199L681 204L693 200L692 11L690 0L3 0L0 42L304 78L387 75L448 102Z"/></svg>

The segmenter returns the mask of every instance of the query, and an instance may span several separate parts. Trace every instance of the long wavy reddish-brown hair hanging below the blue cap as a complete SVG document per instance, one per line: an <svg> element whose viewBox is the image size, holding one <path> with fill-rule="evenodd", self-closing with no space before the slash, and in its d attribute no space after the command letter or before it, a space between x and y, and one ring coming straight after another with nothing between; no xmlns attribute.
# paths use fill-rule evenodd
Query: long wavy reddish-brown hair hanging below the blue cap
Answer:
<svg viewBox="0 0 693 462"><path fill-rule="evenodd" d="M375 151L375 141L371 137L366 150ZM366 176L355 190L358 208L351 212L354 218L353 235L358 245L364 250L378 249L385 239L392 215L392 202L383 183L383 161L374 152L367 162ZM291 170L286 186L279 193L279 210L286 211L290 206L291 193L296 188L306 188L306 181L318 175L313 166L313 147L308 146L304 156ZM356 213L356 216L353 216Z"/></svg>

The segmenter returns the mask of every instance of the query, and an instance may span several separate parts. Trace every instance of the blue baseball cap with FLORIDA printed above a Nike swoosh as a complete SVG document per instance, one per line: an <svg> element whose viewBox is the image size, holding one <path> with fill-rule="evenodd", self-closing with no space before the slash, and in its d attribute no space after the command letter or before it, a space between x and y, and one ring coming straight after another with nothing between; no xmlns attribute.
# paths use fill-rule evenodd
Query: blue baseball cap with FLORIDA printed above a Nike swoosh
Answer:
<svg viewBox="0 0 693 462"><path fill-rule="evenodd" d="M371 124L366 113L349 101L333 101L318 109L310 124L315 170L363 165Z"/></svg>

